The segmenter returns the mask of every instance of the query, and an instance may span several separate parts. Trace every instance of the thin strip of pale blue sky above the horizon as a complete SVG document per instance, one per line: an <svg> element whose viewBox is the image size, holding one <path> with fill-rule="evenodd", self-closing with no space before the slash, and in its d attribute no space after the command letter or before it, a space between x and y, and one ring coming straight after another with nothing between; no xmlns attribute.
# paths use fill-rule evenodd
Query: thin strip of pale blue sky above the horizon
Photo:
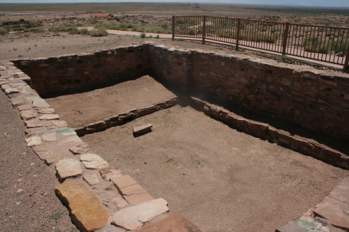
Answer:
<svg viewBox="0 0 349 232"><path fill-rule="evenodd" d="M161 3L238 3L257 5L315 6L349 8L349 0L0 0L0 3L86 3L86 2L161 2ZM1 10L1 9L0 9Z"/></svg>

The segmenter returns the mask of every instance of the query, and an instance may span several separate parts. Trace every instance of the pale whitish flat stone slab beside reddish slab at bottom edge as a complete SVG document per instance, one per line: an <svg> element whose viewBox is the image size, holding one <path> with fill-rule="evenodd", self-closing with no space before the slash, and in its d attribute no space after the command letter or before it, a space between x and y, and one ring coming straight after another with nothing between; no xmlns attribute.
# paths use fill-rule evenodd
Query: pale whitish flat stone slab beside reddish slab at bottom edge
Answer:
<svg viewBox="0 0 349 232"><path fill-rule="evenodd" d="M140 228L143 223L154 217L168 212L168 202L162 198L147 201L138 206L131 206L119 210L112 215L112 224L128 230Z"/></svg>

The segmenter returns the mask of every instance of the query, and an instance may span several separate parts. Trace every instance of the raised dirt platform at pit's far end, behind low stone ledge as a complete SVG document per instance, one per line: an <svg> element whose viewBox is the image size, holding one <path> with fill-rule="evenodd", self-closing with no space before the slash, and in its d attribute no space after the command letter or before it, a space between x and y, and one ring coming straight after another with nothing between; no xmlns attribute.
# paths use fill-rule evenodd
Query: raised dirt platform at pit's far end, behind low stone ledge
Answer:
<svg viewBox="0 0 349 232"><path fill-rule="evenodd" d="M172 98L176 95L147 75L94 91L47 98L46 101L70 127L80 127Z"/></svg>

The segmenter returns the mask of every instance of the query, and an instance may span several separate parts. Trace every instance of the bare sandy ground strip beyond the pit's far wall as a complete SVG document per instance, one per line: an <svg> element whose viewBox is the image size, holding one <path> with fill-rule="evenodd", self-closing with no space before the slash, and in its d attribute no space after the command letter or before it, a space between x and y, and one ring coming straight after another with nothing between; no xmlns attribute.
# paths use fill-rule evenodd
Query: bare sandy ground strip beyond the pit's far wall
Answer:
<svg viewBox="0 0 349 232"><path fill-rule="evenodd" d="M0 59L59 56L122 45L135 45L146 41L210 51L235 52L232 49L202 45L200 42L191 42L190 40L142 39L136 36L117 35L96 38L91 36L69 35L65 32L58 33L57 35L59 36L54 36L54 33L47 32L31 33L29 37L22 36L22 38L17 38L15 35L0 36Z"/></svg>

